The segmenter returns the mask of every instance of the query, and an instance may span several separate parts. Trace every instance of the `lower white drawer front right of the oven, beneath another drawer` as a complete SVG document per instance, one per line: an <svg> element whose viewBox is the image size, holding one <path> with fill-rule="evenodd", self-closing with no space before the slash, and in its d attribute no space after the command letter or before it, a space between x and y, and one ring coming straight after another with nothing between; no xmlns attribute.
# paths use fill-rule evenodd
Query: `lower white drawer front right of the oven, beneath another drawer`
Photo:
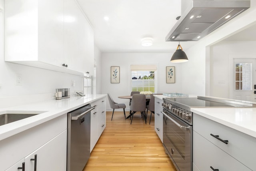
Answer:
<svg viewBox="0 0 256 171"><path fill-rule="evenodd" d="M195 124L195 123L194 123ZM248 167L193 131L193 163L200 171L250 171Z"/></svg>

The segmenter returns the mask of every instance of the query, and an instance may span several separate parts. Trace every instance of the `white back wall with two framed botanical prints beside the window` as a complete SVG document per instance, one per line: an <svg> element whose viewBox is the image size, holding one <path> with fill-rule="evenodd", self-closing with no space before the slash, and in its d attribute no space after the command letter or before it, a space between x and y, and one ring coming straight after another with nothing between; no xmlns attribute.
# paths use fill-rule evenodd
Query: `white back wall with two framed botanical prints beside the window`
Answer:
<svg viewBox="0 0 256 171"><path fill-rule="evenodd" d="M129 110L129 100L119 99L118 96L130 95L131 93L131 65L157 66L157 93L181 92L182 64L170 62L170 53L108 53L102 54L102 93L110 93L114 101L125 103ZM120 66L120 83L110 83L110 67ZM175 66L175 83L166 83L166 66ZM110 109L107 103L107 110Z"/></svg>

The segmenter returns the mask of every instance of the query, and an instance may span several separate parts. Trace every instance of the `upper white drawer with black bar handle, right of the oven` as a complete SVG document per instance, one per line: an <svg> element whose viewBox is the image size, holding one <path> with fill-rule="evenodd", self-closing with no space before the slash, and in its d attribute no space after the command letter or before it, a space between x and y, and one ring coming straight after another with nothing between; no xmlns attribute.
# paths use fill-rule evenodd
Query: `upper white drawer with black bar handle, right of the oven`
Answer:
<svg viewBox="0 0 256 171"><path fill-rule="evenodd" d="M256 170L256 138L195 113L193 114L193 129L250 169ZM210 134L218 135L220 139L228 140L228 144Z"/></svg>

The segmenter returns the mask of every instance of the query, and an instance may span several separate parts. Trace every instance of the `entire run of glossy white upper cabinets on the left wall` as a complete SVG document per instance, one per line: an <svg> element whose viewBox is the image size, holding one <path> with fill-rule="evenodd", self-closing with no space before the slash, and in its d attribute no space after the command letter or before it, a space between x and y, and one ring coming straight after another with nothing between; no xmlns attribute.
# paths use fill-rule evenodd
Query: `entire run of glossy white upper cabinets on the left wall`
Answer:
<svg viewBox="0 0 256 171"><path fill-rule="evenodd" d="M92 72L89 28L75 0L5 1L5 61L76 75Z"/></svg>

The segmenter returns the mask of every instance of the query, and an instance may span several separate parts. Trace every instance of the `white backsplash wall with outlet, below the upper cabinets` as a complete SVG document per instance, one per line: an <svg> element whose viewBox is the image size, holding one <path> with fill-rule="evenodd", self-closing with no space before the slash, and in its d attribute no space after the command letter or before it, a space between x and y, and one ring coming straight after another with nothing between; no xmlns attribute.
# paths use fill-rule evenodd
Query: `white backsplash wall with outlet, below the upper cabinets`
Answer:
<svg viewBox="0 0 256 171"><path fill-rule="evenodd" d="M16 85L16 74L22 75L22 85ZM76 81L75 87L71 80ZM56 88L70 88L71 94L81 91L82 78L4 61L4 0L0 0L0 108L54 98Z"/></svg>

